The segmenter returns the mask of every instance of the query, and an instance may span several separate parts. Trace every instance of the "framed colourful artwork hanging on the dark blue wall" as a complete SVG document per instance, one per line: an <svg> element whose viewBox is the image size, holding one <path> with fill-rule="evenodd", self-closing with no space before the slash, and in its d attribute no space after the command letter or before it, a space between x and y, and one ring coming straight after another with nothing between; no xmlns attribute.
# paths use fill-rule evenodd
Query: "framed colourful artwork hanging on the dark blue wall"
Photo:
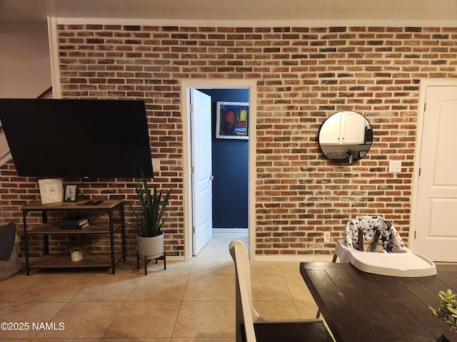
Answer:
<svg viewBox="0 0 457 342"><path fill-rule="evenodd" d="M216 108L216 138L249 139L249 103L217 102Z"/></svg>

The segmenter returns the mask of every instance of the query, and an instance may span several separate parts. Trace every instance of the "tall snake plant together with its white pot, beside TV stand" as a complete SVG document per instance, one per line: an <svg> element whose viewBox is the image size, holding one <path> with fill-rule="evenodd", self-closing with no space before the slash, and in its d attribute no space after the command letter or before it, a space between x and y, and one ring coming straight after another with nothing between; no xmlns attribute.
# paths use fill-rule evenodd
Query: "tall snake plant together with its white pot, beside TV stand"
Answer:
<svg viewBox="0 0 457 342"><path fill-rule="evenodd" d="M130 209L135 216L136 250L141 257L156 259L164 253L164 232L161 230L166 217L166 206L169 202L171 189L162 199L162 190L158 193L154 186L153 193L148 187L144 172L141 171L141 182L137 180L136 194L140 202L139 209L134 209L129 202Z"/></svg>

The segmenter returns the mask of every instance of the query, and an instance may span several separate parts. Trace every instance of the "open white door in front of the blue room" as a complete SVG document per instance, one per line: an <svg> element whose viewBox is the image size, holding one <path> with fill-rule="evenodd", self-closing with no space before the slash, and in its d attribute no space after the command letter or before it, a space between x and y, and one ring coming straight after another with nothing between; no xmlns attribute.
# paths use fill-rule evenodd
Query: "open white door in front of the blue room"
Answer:
<svg viewBox="0 0 457 342"><path fill-rule="evenodd" d="M196 255L213 237L211 97L191 89L192 242Z"/></svg>

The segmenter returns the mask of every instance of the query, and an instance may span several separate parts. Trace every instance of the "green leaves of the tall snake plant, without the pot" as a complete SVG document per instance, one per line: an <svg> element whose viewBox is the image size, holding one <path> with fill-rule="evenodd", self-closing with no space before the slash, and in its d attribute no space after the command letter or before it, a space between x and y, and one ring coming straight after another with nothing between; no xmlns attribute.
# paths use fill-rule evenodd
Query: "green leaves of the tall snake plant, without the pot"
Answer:
<svg viewBox="0 0 457 342"><path fill-rule="evenodd" d="M129 202L130 209L134 213L136 228L138 229L139 237L157 237L162 234L161 227L164 224L166 206L169 202L171 189L166 192L162 200L162 190L157 193L157 187L154 186L154 192L151 195L151 190L144 177L144 172L141 171L141 182L136 180L136 195L138 195L140 208L135 210Z"/></svg>

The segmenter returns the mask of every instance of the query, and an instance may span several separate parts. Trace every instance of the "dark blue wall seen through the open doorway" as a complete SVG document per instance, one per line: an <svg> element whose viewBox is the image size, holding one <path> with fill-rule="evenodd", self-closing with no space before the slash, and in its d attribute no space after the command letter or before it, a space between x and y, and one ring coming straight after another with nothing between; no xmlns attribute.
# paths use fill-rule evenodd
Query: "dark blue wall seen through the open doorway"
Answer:
<svg viewBox="0 0 457 342"><path fill-rule="evenodd" d="M248 140L216 139L216 102L249 102L249 90L199 90L210 95L213 104L213 227L247 228Z"/></svg>

